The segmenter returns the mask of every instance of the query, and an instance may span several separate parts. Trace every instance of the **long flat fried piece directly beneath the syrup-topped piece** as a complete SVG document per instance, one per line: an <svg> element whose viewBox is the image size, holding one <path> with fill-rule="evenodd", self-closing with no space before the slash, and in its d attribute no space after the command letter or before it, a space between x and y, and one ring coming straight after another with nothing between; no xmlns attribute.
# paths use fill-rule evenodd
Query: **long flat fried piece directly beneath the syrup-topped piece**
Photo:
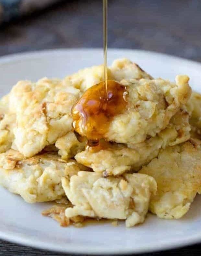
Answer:
<svg viewBox="0 0 201 256"><path fill-rule="evenodd" d="M189 115L178 111L167 128L155 137L137 144L111 144L108 149L98 152L84 150L75 156L78 163L92 168L104 176L119 175L128 171L138 171L159 154L161 148L182 143L190 138Z"/></svg>

